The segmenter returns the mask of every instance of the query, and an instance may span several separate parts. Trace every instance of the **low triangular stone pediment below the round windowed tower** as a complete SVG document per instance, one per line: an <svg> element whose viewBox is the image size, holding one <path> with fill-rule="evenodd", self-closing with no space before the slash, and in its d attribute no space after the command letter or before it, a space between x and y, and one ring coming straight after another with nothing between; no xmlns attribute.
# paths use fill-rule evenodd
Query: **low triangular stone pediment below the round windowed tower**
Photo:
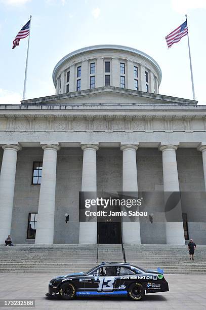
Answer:
<svg viewBox="0 0 206 310"><path fill-rule="evenodd" d="M119 87L105 86L79 92L22 100L21 104L79 104L79 105L197 105L197 101L153 94Z"/></svg>

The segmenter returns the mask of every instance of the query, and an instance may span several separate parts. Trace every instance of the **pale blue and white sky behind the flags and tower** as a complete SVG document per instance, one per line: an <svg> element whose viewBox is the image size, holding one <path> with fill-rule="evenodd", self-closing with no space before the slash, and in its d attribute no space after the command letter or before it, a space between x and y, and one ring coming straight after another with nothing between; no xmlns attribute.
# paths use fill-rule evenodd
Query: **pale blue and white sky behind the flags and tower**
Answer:
<svg viewBox="0 0 206 310"><path fill-rule="evenodd" d="M167 48L165 36L188 15L194 86L206 104L205 0L0 0L0 104L22 99L28 37L12 42L32 15L26 98L55 93L52 71L73 50L117 44L141 50L161 67L160 94L192 99L187 37Z"/></svg>

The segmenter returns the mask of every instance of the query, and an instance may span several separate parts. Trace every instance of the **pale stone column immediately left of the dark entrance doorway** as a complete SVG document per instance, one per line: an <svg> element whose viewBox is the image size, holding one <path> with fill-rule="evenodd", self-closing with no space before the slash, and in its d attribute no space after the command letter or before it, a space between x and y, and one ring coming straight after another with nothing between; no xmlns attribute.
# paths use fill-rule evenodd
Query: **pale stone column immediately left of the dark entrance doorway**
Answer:
<svg viewBox="0 0 206 310"><path fill-rule="evenodd" d="M96 144L83 144L83 174L81 179L81 191L97 191L97 156ZM95 194L96 195L96 194ZM97 243L97 222L79 223L79 243Z"/></svg>

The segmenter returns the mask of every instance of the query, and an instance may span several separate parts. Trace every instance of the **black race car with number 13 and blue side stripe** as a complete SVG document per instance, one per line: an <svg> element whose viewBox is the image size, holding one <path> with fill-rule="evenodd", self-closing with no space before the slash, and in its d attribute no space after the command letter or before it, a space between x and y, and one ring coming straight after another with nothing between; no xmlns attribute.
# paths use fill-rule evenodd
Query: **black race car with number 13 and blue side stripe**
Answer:
<svg viewBox="0 0 206 310"><path fill-rule="evenodd" d="M101 263L87 273L52 279L47 297L73 299L75 296L129 296L140 300L146 293L169 291L163 270L144 270L129 263Z"/></svg>

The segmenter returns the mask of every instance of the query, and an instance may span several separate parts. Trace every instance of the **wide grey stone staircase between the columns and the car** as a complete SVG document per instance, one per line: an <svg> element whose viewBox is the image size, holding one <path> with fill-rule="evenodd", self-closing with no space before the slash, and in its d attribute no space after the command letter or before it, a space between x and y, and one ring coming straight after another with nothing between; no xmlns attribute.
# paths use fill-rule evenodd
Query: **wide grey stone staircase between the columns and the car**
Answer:
<svg viewBox="0 0 206 310"><path fill-rule="evenodd" d="M190 261L187 246L125 245L127 262L166 274L206 274L206 246ZM0 246L0 273L53 273L87 271L96 265L97 245L54 244L52 246ZM123 262L121 245L99 245L100 262Z"/></svg>

